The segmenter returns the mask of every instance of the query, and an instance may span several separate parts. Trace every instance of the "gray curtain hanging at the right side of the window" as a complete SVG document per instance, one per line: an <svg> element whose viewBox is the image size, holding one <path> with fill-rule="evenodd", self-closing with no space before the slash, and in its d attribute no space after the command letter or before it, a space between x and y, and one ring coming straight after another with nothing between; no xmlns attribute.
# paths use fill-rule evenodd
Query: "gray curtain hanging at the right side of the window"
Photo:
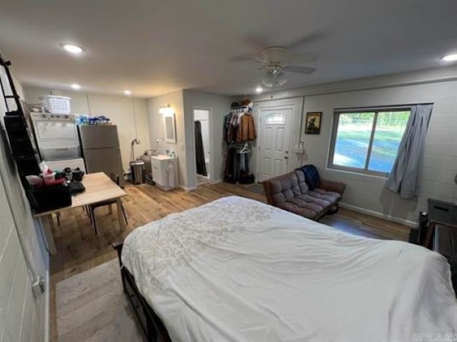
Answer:
<svg viewBox="0 0 457 342"><path fill-rule="evenodd" d="M431 104L411 107L411 116L398 146L397 158L386 181L386 188L399 193L401 198L417 195L418 173L432 109Z"/></svg>

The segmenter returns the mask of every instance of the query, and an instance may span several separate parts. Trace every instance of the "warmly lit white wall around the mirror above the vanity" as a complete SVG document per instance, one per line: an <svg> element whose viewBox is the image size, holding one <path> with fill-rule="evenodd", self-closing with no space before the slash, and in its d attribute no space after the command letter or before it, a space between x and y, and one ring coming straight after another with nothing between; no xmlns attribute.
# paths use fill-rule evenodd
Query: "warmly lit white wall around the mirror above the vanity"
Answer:
<svg viewBox="0 0 457 342"><path fill-rule="evenodd" d="M164 118L159 109L169 104L175 111L176 118L176 144L164 140ZM179 184L188 187L188 174L186 171L186 131L184 130L184 99L183 91L174 91L170 94L153 97L147 100L149 117L149 136L151 148L155 148L156 139L159 139L157 152L164 154L166 149L176 152L178 156ZM189 134L187 134L189 135Z"/></svg>

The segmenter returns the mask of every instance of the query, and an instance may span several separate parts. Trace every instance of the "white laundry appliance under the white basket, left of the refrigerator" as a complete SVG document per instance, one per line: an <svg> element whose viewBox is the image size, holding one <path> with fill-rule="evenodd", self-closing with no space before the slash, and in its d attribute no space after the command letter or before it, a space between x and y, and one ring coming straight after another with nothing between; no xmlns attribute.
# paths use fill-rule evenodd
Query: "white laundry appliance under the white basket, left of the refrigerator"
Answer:
<svg viewBox="0 0 457 342"><path fill-rule="evenodd" d="M31 120L41 159L58 161L81 157L74 114L31 113Z"/></svg>

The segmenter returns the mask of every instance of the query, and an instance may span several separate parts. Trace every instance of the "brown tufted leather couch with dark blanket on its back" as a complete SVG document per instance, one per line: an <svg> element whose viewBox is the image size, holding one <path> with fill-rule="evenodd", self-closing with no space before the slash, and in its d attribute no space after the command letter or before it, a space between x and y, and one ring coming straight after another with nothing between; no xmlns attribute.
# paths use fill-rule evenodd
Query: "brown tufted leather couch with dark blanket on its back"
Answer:
<svg viewBox="0 0 457 342"><path fill-rule="evenodd" d="M309 190L301 170L263 181L268 204L317 221L334 208L343 196L346 184L321 179Z"/></svg>

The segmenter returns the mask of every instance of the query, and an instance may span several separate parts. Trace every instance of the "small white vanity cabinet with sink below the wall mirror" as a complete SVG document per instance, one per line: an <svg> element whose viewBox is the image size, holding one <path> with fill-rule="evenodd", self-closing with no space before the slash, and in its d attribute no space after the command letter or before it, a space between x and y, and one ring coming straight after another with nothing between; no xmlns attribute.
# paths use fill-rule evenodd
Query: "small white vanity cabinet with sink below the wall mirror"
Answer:
<svg viewBox="0 0 457 342"><path fill-rule="evenodd" d="M162 190L178 187L178 159L166 154L151 157L152 180Z"/></svg>

